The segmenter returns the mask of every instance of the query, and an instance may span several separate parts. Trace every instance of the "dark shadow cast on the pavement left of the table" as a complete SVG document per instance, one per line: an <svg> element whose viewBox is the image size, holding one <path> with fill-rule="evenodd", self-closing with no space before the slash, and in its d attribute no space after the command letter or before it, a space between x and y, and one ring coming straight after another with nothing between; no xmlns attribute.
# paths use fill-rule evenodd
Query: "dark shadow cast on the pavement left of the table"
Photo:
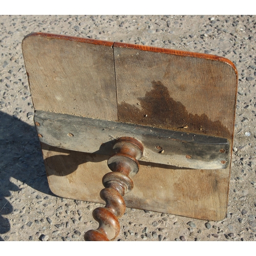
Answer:
<svg viewBox="0 0 256 256"><path fill-rule="evenodd" d="M13 206L6 199L20 187L11 177L28 186L53 195L49 189L44 161L35 127L0 111L0 234L10 230L5 215L11 214ZM0 241L3 238L0 236Z"/></svg>

